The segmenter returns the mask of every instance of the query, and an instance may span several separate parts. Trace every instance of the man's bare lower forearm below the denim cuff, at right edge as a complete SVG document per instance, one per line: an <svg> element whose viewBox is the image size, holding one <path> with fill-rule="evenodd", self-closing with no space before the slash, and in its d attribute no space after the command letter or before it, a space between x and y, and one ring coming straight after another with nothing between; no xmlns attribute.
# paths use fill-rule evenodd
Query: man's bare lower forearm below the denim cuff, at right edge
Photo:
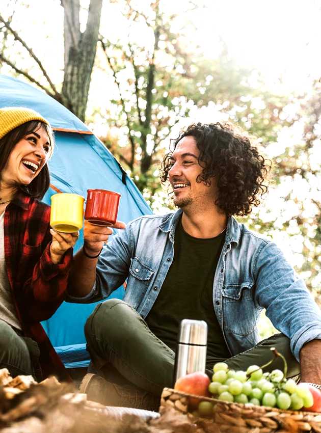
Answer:
<svg viewBox="0 0 321 433"><path fill-rule="evenodd" d="M321 340L312 340L300 350L301 382L321 385Z"/></svg>

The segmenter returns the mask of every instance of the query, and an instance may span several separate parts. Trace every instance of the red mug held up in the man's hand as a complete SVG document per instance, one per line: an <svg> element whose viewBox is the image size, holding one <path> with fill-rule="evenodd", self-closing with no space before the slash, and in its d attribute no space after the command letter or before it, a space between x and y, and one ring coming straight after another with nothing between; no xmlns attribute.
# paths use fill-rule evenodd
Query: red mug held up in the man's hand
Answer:
<svg viewBox="0 0 321 433"><path fill-rule="evenodd" d="M87 190L85 220L97 226L113 226L117 220L120 194L107 190Z"/></svg>

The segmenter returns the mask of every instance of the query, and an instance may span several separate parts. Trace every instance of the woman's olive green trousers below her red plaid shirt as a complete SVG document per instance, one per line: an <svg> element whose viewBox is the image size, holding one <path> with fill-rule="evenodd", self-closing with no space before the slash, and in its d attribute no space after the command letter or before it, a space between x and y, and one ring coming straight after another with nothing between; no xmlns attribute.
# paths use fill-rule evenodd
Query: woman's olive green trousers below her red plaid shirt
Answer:
<svg viewBox="0 0 321 433"><path fill-rule="evenodd" d="M8 368L12 377L19 374L35 375L34 363L39 358L38 344L22 337L4 320L0 319L0 368Z"/></svg>

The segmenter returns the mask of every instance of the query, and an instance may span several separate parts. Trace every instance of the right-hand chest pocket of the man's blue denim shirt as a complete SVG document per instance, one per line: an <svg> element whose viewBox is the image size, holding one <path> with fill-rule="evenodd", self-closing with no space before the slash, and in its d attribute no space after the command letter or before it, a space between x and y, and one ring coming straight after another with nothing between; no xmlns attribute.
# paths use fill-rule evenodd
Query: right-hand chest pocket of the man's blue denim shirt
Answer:
<svg viewBox="0 0 321 433"><path fill-rule="evenodd" d="M222 289L224 328L247 336L256 329L257 312L252 288L254 283L227 284Z"/></svg>

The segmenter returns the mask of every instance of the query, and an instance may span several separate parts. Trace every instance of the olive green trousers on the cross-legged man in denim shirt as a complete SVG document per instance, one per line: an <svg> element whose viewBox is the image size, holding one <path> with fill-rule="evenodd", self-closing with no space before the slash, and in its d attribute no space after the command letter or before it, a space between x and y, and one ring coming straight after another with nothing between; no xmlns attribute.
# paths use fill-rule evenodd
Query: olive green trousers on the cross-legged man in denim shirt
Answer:
<svg viewBox="0 0 321 433"><path fill-rule="evenodd" d="M154 404L157 408L163 388L173 386L175 353L149 330L137 311L118 299L105 301L88 318L85 335L93 371L109 382L110 404L140 409L150 409ZM270 347L276 347L285 356L288 377L300 374L289 339L283 334L260 341L226 363L234 370L263 365L272 359ZM206 369L211 370L215 362L207 358ZM280 358L270 370L275 368L283 370Z"/></svg>

